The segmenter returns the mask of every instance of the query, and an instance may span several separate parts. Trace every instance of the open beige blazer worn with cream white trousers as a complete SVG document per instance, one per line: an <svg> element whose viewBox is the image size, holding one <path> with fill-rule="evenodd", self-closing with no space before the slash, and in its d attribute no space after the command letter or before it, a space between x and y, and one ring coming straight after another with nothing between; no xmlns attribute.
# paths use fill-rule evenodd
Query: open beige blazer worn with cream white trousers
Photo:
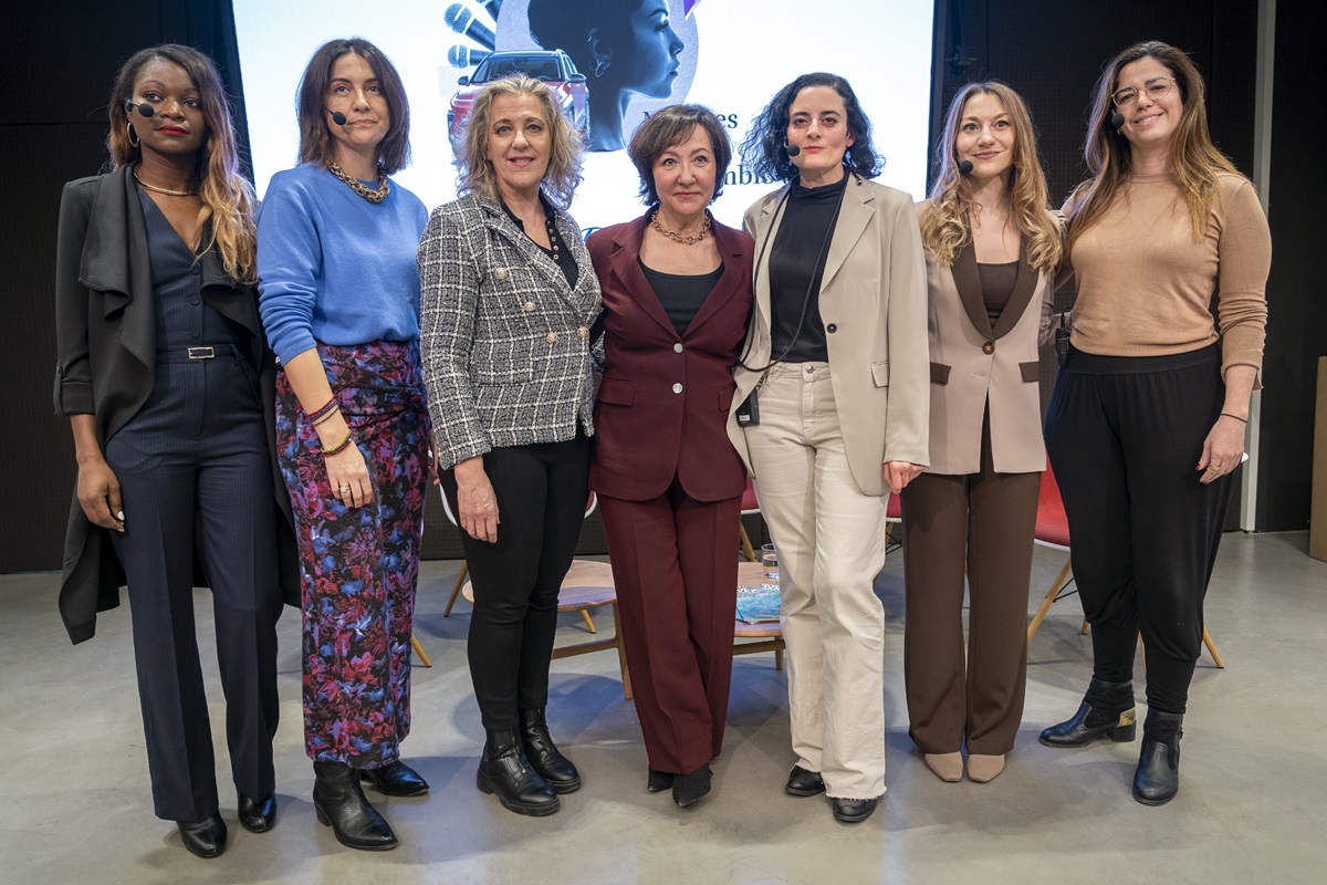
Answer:
<svg viewBox="0 0 1327 885"><path fill-rule="evenodd" d="M742 352L752 369L770 361L770 249L762 247L778 234L786 191L760 198L746 214L758 257ZM820 281L820 318L848 468L864 495L886 495L885 462L929 463L926 263L908 194L851 176ZM734 373L729 438L747 471L746 435L734 415L762 375L740 365Z"/></svg>

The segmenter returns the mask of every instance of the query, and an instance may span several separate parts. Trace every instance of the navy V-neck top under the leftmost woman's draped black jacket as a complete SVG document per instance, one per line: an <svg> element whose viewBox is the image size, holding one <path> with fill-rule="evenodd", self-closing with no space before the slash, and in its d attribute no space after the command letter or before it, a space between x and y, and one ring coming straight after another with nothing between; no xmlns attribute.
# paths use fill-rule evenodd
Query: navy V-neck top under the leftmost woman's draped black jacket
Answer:
<svg viewBox="0 0 1327 885"><path fill-rule="evenodd" d="M146 191L138 191L157 308L158 358L186 348L239 345L243 330L203 301L202 259L180 239Z"/></svg>

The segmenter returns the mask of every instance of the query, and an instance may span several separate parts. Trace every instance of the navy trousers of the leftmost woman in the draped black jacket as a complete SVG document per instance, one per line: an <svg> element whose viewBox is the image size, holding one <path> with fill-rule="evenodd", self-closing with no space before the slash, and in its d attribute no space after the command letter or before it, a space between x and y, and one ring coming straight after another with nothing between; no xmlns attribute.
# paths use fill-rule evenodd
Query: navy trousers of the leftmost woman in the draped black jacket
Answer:
<svg viewBox="0 0 1327 885"><path fill-rule="evenodd" d="M151 397L106 444L123 494L113 532L158 817L216 813L212 728L194 628L194 556L212 588L226 742L239 792L276 785L276 504L252 370L234 356L158 364Z"/></svg>

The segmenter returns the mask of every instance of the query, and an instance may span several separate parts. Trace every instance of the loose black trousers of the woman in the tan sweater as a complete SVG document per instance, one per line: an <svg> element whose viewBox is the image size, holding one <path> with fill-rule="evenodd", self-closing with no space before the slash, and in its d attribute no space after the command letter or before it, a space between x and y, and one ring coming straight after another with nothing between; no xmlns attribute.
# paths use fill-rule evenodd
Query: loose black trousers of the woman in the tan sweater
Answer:
<svg viewBox="0 0 1327 885"><path fill-rule="evenodd" d="M1148 705L1161 713L1185 711L1202 650L1234 480L1204 486L1196 467L1223 401L1220 344L1169 357L1071 350L1046 415L1093 675L1132 679L1141 632Z"/></svg>

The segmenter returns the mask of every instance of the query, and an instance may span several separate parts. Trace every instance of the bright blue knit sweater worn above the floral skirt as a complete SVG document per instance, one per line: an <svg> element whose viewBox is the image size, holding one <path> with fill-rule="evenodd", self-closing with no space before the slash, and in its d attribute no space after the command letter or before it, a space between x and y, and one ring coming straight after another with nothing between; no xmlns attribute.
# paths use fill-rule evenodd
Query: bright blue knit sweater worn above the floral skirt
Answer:
<svg viewBox="0 0 1327 885"><path fill-rule="evenodd" d="M272 176L257 214L259 310L283 362L317 341L419 337L415 249L429 212L391 182L370 203L320 165Z"/></svg>

